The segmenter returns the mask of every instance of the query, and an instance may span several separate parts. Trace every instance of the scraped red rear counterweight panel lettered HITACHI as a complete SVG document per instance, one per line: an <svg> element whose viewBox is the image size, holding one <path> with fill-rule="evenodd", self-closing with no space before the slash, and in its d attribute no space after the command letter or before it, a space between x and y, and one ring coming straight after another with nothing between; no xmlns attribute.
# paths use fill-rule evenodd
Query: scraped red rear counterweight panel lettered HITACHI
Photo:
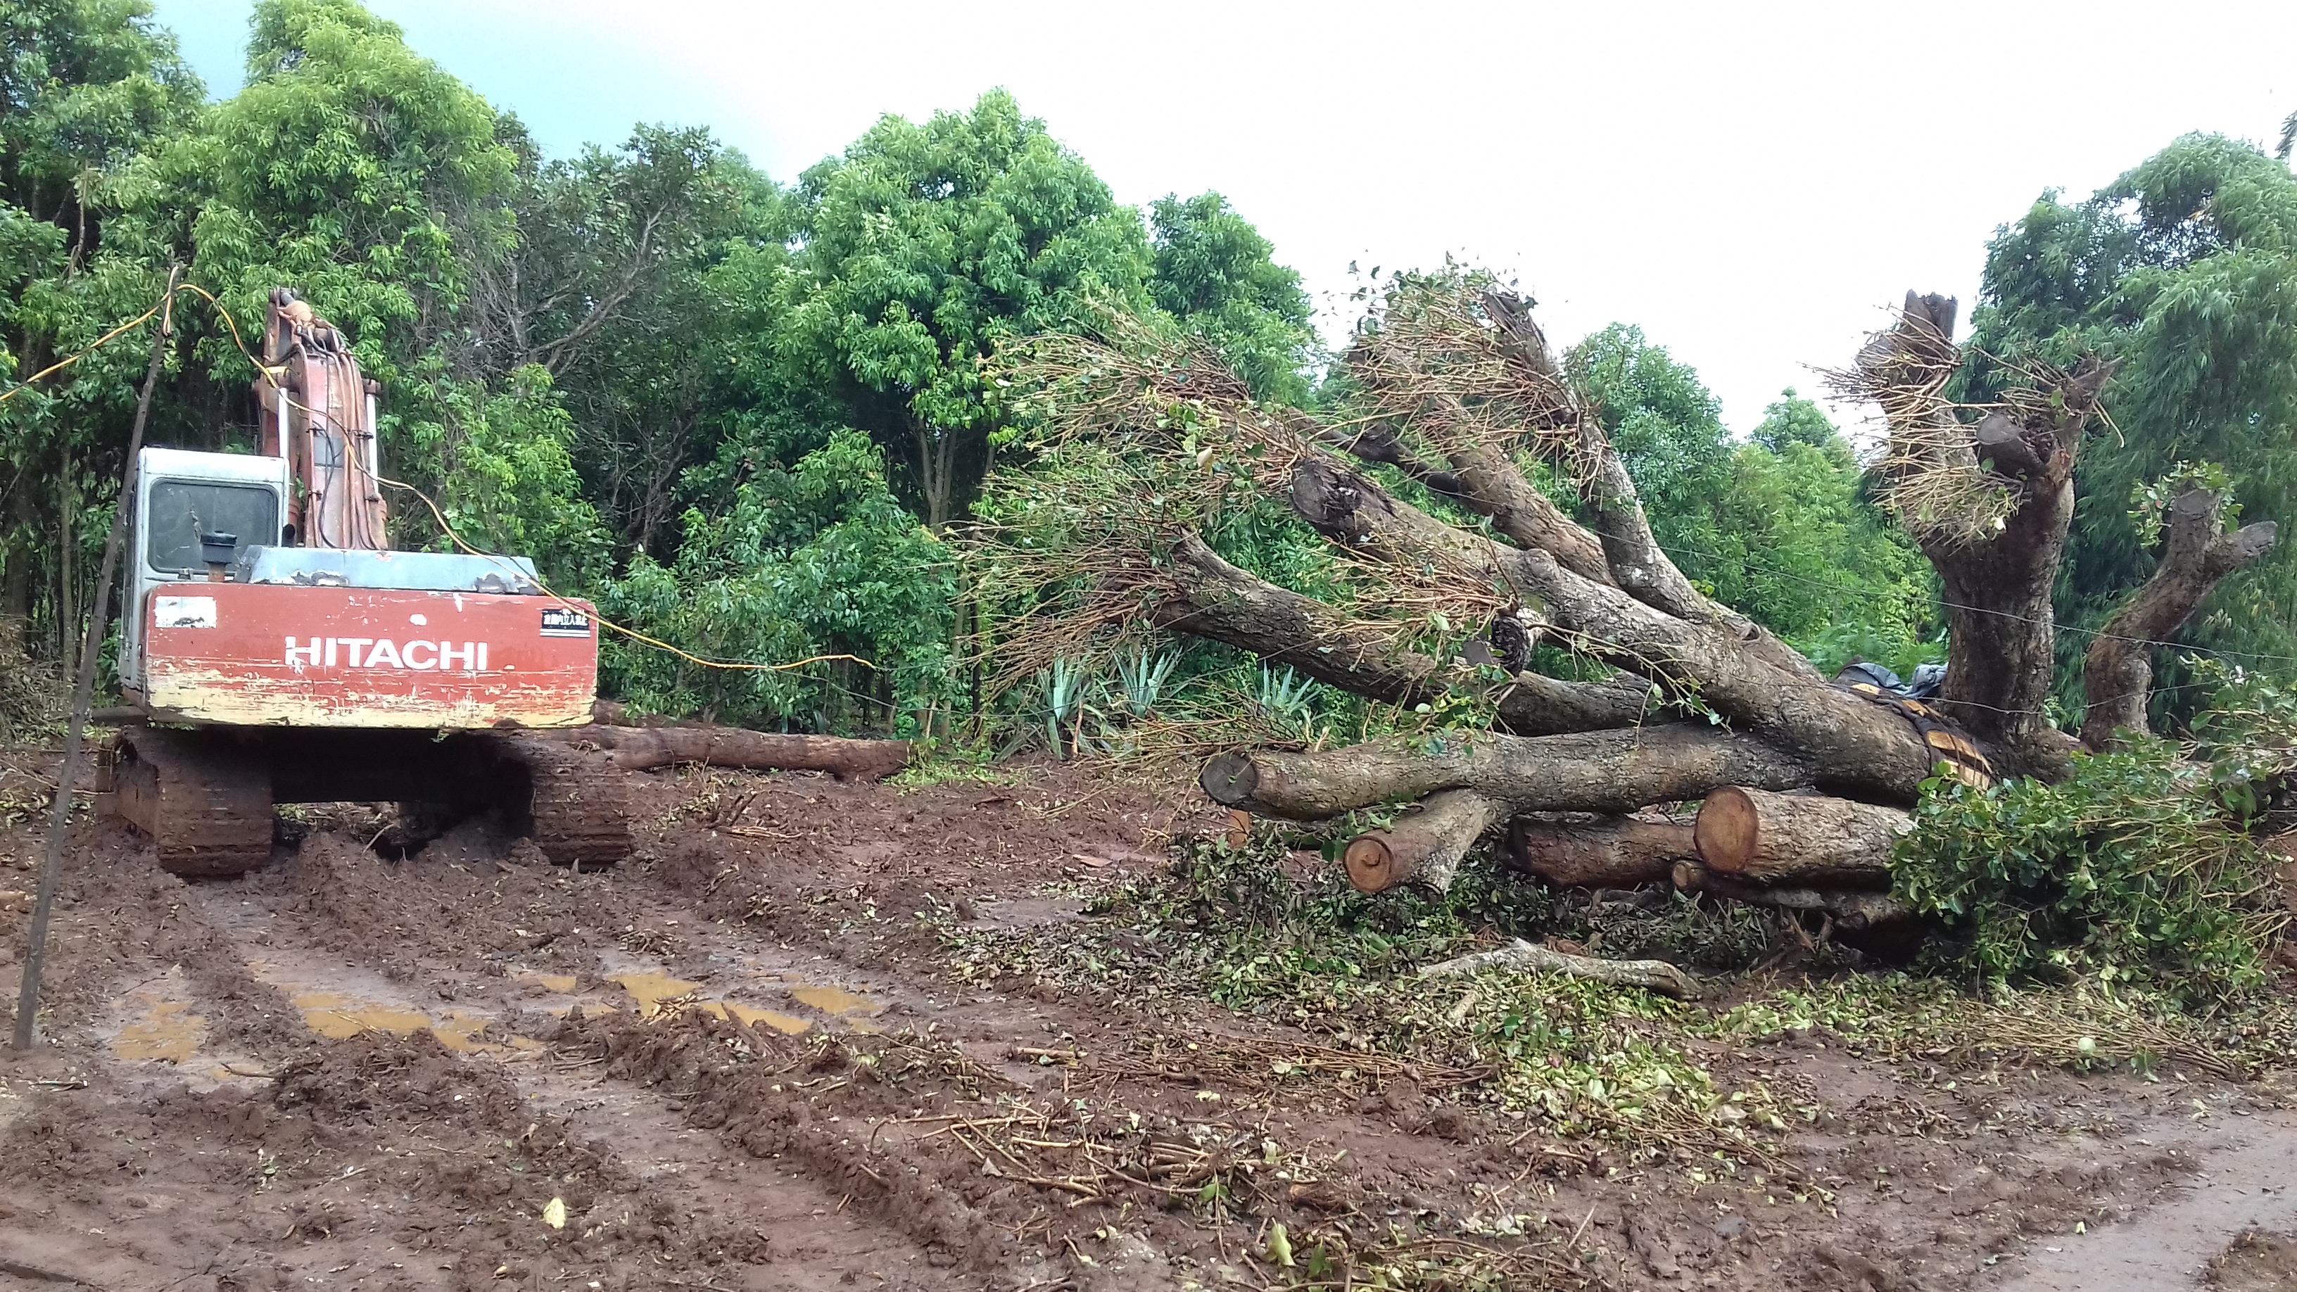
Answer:
<svg viewBox="0 0 2297 1292"><path fill-rule="evenodd" d="M163 584L145 699L246 726L581 726L597 692L588 602L292 584Z"/></svg>

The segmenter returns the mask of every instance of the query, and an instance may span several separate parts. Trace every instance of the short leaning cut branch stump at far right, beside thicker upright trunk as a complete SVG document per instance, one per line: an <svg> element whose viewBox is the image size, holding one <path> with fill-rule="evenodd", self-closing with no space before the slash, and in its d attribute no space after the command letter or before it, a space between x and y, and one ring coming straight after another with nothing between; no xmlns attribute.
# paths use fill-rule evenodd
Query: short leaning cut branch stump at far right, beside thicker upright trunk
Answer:
<svg viewBox="0 0 2297 1292"><path fill-rule="evenodd" d="M2184 490L2168 508L2168 540L2152 579L2136 591L2106 628L2090 641L2081 669L2088 710L2081 717L2081 743L2111 749L2120 731L2145 733L2145 697L2152 687L2152 648L2178 630L2210 591L2274 545L2274 522L2260 520L2226 533L2219 524L2219 497L2212 490Z"/></svg>

